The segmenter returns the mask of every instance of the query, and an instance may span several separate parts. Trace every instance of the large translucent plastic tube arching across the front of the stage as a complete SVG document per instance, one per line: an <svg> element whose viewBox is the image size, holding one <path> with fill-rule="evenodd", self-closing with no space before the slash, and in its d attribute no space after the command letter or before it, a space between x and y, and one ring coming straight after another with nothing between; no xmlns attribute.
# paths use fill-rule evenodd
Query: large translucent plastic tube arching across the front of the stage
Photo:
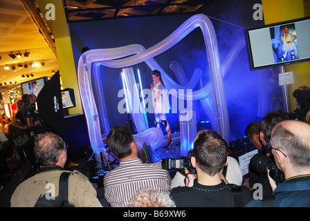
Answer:
<svg viewBox="0 0 310 221"><path fill-rule="evenodd" d="M104 66L111 68L124 68L133 66L141 62L145 62L152 70L157 69L162 73L163 81L168 90L174 88L188 89L186 86L176 84L165 71L158 66L153 57L165 52L181 39L186 37L195 28L201 28L203 39L206 45L206 55L210 64L210 73L212 77L212 85L208 84L199 90L192 92L192 97L185 97L179 93L179 97L185 99L203 99L208 93L215 94L215 108L218 122L219 133L225 140L229 140L229 122L228 109L226 104L226 95L224 90L223 75L219 61L219 51L217 47L217 37L212 23L205 15L194 15L177 28L170 36L163 41L145 50L142 46L129 45L120 48L95 49L84 52L81 55L78 64L78 82L80 87L80 95L86 115L86 122L89 128L89 137L94 153L102 151L102 138L100 132L100 121L98 111L93 98L93 90L91 85L91 64L99 62ZM129 56L131 55L131 56ZM97 73L98 74L98 73Z"/></svg>

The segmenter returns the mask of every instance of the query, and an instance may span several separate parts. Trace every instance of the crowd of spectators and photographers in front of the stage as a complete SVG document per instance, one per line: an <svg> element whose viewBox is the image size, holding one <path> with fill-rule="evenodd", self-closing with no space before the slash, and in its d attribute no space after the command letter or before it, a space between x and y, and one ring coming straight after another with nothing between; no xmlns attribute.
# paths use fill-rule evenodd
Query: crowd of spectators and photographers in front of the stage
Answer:
<svg viewBox="0 0 310 221"><path fill-rule="evenodd" d="M64 172L70 173L68 202L73 206L310 206L310 90L300 87L293 96L297 106L293 113L272 111L261 122L249 122L245 128L245 135L258 150L250 160L246 180L237 160L229 156L228 144L215 131L199 131L194 137L190 156L194 173L185 168L172 177L161 162L142 162L134 136L129 128L120 125L107 135L109 150L120 164L104 175L103 203L87 177L78 171L64 170L67 160L64 140L46 133L34 142L39 172L19 184L11 206L35 206L46 194L49 182L55 184L56 190L51 198L57 198L60 190L57 180ZM10 131L5 129L6 119L0 122L1 133ZM26 122L19 128L23 126L27 126ZM268 167L260 165L263 161L268 162Z"/></svg>

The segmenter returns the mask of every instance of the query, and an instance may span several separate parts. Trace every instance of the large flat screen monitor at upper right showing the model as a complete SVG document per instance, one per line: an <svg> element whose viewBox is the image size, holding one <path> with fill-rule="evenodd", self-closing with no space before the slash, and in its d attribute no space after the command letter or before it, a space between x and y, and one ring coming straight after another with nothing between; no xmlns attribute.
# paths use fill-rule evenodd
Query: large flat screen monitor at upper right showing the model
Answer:
<svg viewBox="0 0 310 221"><path fill-rule="evenodd" d="M310 17L246 28L252 70L310 59Z"/></svg>

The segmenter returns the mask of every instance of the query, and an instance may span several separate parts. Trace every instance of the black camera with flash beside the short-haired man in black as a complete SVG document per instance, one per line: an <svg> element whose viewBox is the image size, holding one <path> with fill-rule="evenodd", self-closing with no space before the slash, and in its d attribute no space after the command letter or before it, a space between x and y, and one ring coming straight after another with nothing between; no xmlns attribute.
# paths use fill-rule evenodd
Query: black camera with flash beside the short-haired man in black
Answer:
<svg viewBox="0 0 310 221"><path fill-rule="evenodd" d="M161 168L166 170L176 169L183 170L188 169L188 171L192 173L196 173L196 169L192 166L191 158L193 156L193 150L188 152L188 157L180 157L180 158L164 158L161 160Z"/></svg>

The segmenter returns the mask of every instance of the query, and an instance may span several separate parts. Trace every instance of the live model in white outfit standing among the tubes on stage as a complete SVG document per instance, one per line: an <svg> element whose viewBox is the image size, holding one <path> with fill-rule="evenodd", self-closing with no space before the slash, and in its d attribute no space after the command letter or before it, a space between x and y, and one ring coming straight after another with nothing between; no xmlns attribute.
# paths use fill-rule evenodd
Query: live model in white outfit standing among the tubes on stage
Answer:
<svg viewBox="0 0 310 221"><path fill-rule="evenodd" d="M167 93L165 93L165 85L163 84L163 79L161 79L161 73L158 70L153 70L152 77L154 84L151 84L151 89L154 93L155 120L157 128L161 129L161 122L165 125L168 138L167 147L169 147L172 144L171 129L165 115L170 109L169 97Z"/></svg>

